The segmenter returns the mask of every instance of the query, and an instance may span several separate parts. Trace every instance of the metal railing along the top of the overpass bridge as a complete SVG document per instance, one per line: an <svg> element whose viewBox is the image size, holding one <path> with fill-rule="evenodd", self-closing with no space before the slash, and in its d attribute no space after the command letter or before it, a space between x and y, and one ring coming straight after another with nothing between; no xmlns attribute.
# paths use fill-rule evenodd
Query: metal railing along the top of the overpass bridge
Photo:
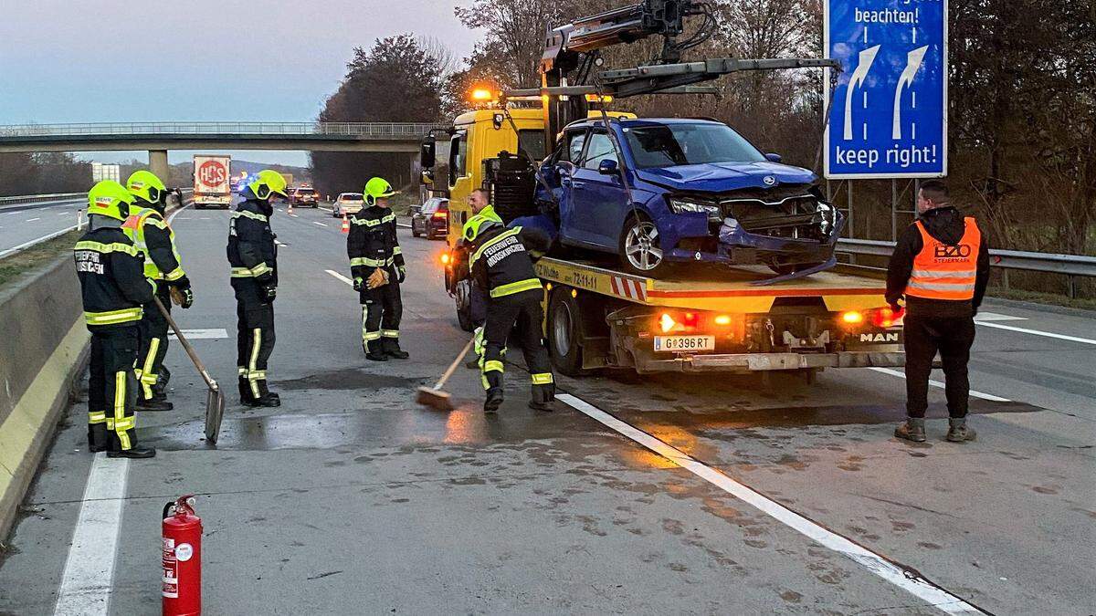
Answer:
<svg viewBox="0 0 1096 616"><path fill-rule="evenodd" d="M418 138L441 124L390 122L126 122L0 126L5 137L125 137L140 135L256 135L285 137Z"/></svg>

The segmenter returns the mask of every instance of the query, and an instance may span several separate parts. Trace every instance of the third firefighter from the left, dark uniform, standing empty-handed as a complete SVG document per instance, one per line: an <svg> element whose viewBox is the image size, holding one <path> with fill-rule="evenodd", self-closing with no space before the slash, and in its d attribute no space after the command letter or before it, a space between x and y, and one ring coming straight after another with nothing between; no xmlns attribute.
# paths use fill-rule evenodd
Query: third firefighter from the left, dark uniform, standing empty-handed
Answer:
<svg viewBox="0 0 1096 616"><path fill-rule="evenodd" d="M237 372L240 403L281 407L266 384L266 362L274 351L274 298L277 296L277 247L271 229L274 195L286 196L285 178L265 169L240 191L243 201L228 226L228 263L236 293Z"/></svg>

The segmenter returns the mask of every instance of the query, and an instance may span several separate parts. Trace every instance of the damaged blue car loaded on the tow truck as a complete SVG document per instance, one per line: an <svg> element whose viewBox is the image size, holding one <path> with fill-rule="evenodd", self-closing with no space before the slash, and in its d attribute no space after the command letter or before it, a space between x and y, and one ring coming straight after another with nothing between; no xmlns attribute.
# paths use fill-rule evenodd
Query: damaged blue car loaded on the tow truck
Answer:
<svg viewBox="0 0 1096 616"><path fill-rule="evenodd" d="M625 270L654 277L685 262L767 265L781 278L834 264L844 218L811 171L716 121L610 126L623 156L592 118L568 125L544 161L561 244L614 253Z"/></svg>

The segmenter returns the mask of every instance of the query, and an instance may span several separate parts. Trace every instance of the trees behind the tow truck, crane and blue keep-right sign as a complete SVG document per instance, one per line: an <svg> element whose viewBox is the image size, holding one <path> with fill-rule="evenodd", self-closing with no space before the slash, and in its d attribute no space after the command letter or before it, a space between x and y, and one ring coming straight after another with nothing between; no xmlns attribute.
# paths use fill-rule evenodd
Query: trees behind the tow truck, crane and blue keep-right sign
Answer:
<svg viewBox="0 0 1096 616"><path fill-rule="evenodd" d="M822 49L822 0L712 5L719 27L692 58L817 57ZM461 24L483 32L468 57L457 61L444 42L412 34L357 48L320 119L446 122L470 109L473 83L539 83L545 32L605 8L601 0L471 0L455 8ZM655 44L612 48L605 66L649 61ZM955 201L984 221L994 246L1096 252L1096 3L950 0L949 66ZM753 72L713 82L718 96L639 96L614 107L715 117L763 150L817 169L826 104L821 79L820 71ZM407 161L391 159L315 152L312 167L320 186L357 185L362 169L406 173ZM843 186L832 187L840 199ZM910 189L900 186L903 209L912 209ZM857 181L854 193L854 237L890 239L890 182Z"/></svg>

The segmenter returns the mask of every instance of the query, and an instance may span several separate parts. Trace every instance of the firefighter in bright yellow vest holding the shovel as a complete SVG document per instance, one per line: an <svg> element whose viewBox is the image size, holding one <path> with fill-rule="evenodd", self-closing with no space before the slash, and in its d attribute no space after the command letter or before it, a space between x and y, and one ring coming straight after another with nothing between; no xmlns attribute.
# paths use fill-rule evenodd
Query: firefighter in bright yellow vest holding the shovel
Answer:
<svg viewBox="0 0 1096 616"><path fill-rule="evenodd" d="M136 199L129 218L122 229L145 255L145 277L157 282L156 296L165 310L171 310L171 290L175 289L182 308L194 304L191 281L183 271L175 232L164 220L168 189L149 171L135 171L126 181L126 189ZM140 395L137 408L146 411L170 411L167 385L171 373L163 367L168 353L168 319L155 301L145 305L140 322L140 343L137 347L137 379Z"/></svg>

